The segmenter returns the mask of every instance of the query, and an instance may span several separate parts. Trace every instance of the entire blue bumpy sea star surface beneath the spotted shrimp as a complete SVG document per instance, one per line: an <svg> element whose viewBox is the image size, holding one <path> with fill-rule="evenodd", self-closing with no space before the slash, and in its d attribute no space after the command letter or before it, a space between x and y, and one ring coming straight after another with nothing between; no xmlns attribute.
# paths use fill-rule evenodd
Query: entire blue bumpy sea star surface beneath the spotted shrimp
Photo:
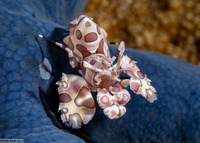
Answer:
<svg viewBox="0 0 200 143"><path fill-rule="evenodd" d="M127 113L120 119L109 120L97 106L93 120L80 130L60 124L55 82L62 72L77 72L70 67L65 51L37 40L35 33L62 41L67 34L64 26L81 12L83 3L0 1L0 138L25 142L199 143L200 67L132 49L126 53L152 80L158 100L151 104L131 92ZM115 48L111 50L113 53ZM49 80L40 78L39 65L44 58L52 66Z"/></svg>

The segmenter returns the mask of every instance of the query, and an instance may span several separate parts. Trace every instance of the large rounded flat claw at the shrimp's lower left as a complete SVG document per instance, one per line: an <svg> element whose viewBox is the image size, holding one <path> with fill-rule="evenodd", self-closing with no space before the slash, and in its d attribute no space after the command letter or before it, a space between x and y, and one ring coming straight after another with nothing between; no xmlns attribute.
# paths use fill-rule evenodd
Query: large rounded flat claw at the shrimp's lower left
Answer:
<svg viewBox="0 0 200 143"><path fill-rule="evenodd" d="M67 89L62 86L63 82L68 82ZM58 85L59 110L62 112L63 123L73 128L80 128L82 123L87 124L94 116L96 107L85 80L80 76L63 73Z"/></svg>

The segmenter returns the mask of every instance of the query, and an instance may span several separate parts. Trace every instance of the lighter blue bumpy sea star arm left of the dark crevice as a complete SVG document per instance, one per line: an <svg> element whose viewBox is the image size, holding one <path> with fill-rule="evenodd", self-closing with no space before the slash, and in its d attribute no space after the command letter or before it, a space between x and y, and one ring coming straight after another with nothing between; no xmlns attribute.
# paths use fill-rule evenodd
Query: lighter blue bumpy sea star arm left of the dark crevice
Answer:
<svg viewBox="0 0 200 143"><path fill-rule="evenodd" d="M67 25L83 10L85 3L70 0L0 1L1 139L18 138L34 143L84 142L56 127L47 117L39 96L39 64L43 53L35 35L48 36L58 24Z"/></svg>

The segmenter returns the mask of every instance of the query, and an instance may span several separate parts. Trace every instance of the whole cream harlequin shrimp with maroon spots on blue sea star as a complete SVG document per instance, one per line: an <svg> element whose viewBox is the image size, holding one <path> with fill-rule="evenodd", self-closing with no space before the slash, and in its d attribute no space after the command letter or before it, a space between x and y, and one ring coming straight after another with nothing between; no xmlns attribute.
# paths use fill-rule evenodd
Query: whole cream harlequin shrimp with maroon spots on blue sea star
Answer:
<svg viewBox="0 0 200 143"><path fill-rule="evenodd" d="M77 129L93 118L96 108L91 91L97 91L97 102L110 119L126 113L124 106L131 99L125 89L128 85L134 93L141 94L151 103L157 99L151 80L140 71L135 61L123 55L123 41L107 42L105 30L86 15L79 15L67 28L70 34L63 39L64 44L39 35L66 50L70 65L82 75L63 73L56 83L59 85L58 110L63 123ZM112 57L109 44L118 46ZM129 75L130 79L120 79L121 74Z"/></svg>

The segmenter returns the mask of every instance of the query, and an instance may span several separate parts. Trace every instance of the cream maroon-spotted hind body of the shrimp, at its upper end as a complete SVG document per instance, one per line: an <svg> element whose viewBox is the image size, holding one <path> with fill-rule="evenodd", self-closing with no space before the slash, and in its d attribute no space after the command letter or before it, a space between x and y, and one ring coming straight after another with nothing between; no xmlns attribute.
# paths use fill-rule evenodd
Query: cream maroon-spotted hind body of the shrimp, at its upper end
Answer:
<svg viewBox="0 0 200 143"><path fill-rule="evenodd" d="M82 69L80 65L87 56L102 54L108 58L108 61L111 58L104 35L105 31L87 18L85 15L80 15L72 21L71 24L74 26L70 27L70 35L64 38L64 43L72 50L73 57L78 61L73 68L78 69L81 74L83 72L80 71Z"/></svg>

